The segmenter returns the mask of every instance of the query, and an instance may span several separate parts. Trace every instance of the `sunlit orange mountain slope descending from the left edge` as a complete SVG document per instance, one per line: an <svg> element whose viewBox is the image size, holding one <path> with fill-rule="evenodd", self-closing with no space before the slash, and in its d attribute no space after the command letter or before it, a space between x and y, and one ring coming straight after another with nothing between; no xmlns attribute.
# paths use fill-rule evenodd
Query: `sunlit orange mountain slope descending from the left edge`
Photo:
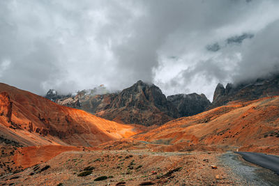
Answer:
<svg viewBox="0 0 279 186"><path fill-rule="evenodd" d="M55 93L54 93L55 94ZM23 146L96 146L140 132L79 109L0 84L0 137Z"/></svg>

